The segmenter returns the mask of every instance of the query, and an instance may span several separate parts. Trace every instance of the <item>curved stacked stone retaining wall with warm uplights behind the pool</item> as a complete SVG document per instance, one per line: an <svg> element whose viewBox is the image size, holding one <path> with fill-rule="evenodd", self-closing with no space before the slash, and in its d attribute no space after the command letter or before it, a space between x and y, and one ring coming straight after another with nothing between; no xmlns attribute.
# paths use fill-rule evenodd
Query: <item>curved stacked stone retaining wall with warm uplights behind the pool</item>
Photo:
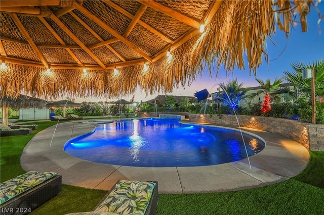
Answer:
<svg viewBox="0 0 324 215"><path fill-rule="evenodd" d="M273 117L238 116L240 126L268 131L293 139L309 150L324 151L324 124ZM237 126L235 115L189 114L189 122Z"/></svg>

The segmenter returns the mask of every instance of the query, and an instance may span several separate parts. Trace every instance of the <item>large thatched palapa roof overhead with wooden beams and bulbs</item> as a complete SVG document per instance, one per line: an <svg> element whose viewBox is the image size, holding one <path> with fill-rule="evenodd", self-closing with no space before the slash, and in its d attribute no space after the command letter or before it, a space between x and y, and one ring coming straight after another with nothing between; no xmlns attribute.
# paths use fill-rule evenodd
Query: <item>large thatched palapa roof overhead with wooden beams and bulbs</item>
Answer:
<svg viewBox="0 0 324 215"><path fill-rule="evenodd" d="M245 53L255 73L275 22L289 32L297 13L306 31L314 1L2 0L0 5L0 52L7 64L0 69L2 93L53 99L64 93L112 98L138 87L146 94L168 93L191 83L203 63L223 64L227 71L245 68Z"/></svg>

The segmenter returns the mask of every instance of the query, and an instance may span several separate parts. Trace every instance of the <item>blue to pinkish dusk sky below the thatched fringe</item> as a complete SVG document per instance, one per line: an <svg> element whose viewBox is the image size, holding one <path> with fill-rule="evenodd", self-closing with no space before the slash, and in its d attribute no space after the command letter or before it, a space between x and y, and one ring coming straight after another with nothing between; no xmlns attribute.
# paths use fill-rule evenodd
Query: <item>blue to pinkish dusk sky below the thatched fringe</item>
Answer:
<svg viewBox="0 0 324 215"><path fill-rule="evenodd" d="M319 3L318 9L321 15L324 14L324 2ZM324 20L322 20L319 25L317 21L319 15L317 11L312 7L310 14L307 16L307 32L301 31L300 23L291 30L289 34L289 39L286 38L286 34L276 29L275 35L272 35L272 41L275 45L267 41L267 49L269 55L269 64L262 59L262 65L257 69L257 76L254 77L252 74L250 76L248 64L246 63L246 70L235 69L233 73L228 73L226 76L226 71L222 68L219 70L218 77L216 79L216 71L210 74L208 70L204 71L203 76L198 76L196 81L190 86L185 86L185 89L180 87L179 89L174 89L172 93L168 95L183 95L183 96L193 96L196 91L207 89L210 93L216 91L218 84L220 82L227 82L237 78L238 83L244 83L244 87L258 86L255 78L266 80L270 78L271 82L275 78L280 78L284 74L284 71L293 71L291 67L292 62L303 62L312 63L320 59L324 59ZM299 21L299 18L297 19ZM153 95L145 95L140 89L135 92L134 100L140 102L146 101L156 97L159 93ZM160 93L164 95L164 93ZM123 99L130 100L132 95L127 97L122 97ZM76 98L76 102L86 101L99 101L99 100L117 100L102 98Z"/></svg>

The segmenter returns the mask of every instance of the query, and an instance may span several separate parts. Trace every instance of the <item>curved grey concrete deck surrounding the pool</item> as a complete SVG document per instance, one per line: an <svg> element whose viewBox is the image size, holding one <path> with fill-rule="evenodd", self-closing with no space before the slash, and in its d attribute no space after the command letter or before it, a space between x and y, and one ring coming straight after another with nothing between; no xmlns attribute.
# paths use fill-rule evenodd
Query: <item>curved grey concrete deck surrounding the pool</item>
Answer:
<svg viewBox="0 0 324 215"><path fill-rule="evenodd" d="M285 181L305 169L308 150L294 140L256 129L242 128L263 138L266 147L237 162L204 167L142 168L106 165L73 157L63 150L67 140L89 133L95 126L65 122L37 133L21 156L25 171L51 171L62 183L110 190L117 180L158 181L159 193L223 192ZM53 141L51 143L53 137Z"/></svg>

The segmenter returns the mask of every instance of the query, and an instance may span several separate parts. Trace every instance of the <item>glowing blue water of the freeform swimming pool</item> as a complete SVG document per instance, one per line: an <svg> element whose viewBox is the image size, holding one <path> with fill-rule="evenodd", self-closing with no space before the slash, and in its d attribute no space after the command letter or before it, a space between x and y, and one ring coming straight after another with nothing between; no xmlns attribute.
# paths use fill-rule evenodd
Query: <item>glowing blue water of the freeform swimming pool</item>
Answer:
<svg viewBox="0 0 324 215"><path fill-rule="evenodd" d="M244 134L244 140L249 156L265 147L254 136ZM64 150L92 162L135 167L208 166L247 157L237 131L155 118L97 125L67 141Z"/></svg>

